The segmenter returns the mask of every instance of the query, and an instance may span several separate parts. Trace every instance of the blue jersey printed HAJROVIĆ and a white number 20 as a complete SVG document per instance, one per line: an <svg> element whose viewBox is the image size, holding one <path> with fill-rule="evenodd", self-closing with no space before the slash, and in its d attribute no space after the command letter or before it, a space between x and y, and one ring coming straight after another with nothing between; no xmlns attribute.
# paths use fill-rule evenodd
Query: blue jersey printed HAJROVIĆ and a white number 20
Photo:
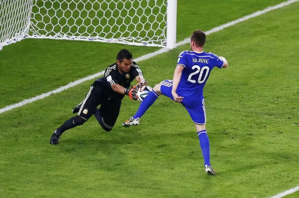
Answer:
<svg viewBox="0 0 299 198"><path fill-rule="evenodd" d="M222 68L223 61L215 54L195 51L182 51L178 64L184 66L177 93L183 100L203 99L203 87L214 67Z"/></svg>

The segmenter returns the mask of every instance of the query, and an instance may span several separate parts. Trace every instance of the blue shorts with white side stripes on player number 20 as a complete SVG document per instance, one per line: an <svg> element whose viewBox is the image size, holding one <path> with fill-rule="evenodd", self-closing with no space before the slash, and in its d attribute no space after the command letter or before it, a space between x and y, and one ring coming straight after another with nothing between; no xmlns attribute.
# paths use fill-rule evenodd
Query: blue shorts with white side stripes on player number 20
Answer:
<svg viewBox="0 0 299 198"><path fill-rule="evenodd" d="M163 95L174 100L172 93L172 80L163 80L161 83L160 91ZM194 99L183 98L181 104L187 109L192 121L195 124L205 124L206 119L206 107L205 99L200 98L198 101Z"/></svg>

